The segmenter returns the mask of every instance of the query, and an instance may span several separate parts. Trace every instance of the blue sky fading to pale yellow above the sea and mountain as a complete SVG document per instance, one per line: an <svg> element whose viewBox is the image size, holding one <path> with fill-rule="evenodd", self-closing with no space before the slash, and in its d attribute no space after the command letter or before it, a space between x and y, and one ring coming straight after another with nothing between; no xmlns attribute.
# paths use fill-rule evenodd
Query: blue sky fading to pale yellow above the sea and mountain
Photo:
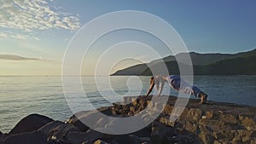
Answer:
<svg viewBox="0 0 256 144"><path fill-rule="evenodd" d="M253 0L0 0L0 55L37 59L0 59L0 75L60 75L68 43L76 33L90 20L120 10L160 17L177 31L190 52L235 54L252 50L256 48L255 6ZM106 25L111 24L100 26ZM93 75L96 69L100 69L100 75L109 74L159 58L147 50L148 46L154 47L160 57L172 55L165 44L146 32L109 32L84 55L82 74ZM76 53L79 51L73 49L73 54ZM113 65L109 68L110 61Z"/></svg>

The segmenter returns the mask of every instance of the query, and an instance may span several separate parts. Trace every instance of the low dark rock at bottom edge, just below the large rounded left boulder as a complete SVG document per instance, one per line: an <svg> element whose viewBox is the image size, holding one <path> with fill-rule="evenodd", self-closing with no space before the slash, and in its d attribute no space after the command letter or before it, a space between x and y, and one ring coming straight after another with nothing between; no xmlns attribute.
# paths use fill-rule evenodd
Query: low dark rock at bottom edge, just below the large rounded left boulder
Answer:
<svg viewBox="0 0 256 144"><path fill-rule="evenodd" d="M30 133L22 133L18 135L10 135L3 144L47 144L47 136L41 131L33 131Z"/></svg>

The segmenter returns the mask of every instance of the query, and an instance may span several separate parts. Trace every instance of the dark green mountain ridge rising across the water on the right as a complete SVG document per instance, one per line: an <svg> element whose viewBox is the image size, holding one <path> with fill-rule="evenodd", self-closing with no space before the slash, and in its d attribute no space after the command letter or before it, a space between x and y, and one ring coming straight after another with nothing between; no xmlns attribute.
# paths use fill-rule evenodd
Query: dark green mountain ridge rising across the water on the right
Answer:
<svg viewBox="0 0 256 144"><path fill-rule="evenodd" d="M168 72L170 74L179 74L176 57L180 60L184 58L185 53L177 54L176 56L170 55L160 60L154 60L147 64L140 64L136 66L127 67L123 70L114 72L112 75L152 75L165 74L161 73L160 63L164 60ZM237 54L198 54L195 52L189 53L195 75L254 75L256 74L256 49L252 51L237 53ZM185 66L185 64L180 64ZM151 70L148 68L151 68ZM159 72L159 73L158 73Z"/></svg>

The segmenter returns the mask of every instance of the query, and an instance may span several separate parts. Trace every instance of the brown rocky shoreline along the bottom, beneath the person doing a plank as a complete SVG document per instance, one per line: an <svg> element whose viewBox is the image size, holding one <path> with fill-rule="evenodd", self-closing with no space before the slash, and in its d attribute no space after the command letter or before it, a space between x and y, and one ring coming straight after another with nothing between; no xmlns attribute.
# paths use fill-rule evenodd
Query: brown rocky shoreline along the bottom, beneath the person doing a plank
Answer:
<svg viewBox="0 0 256 144"><path fill-rule="evenodd" d="M111 117L137 116L146 107L162 112L143 130L125 135L107 135L91 130L81 121L88 120L94 112L78 112L66 122L32 114L20 120L8 134L0 132L0 144L221 144L256 143L256 107L190 99L182 115L170 121L177 97L169 96L166 104L150 102L145 98L125 97L123 102L98 111ZM124 105L124 102L131 102ZM149 112L149 113L150 113ZM106 127L106 120L93 122L99 129Z"/></svg>

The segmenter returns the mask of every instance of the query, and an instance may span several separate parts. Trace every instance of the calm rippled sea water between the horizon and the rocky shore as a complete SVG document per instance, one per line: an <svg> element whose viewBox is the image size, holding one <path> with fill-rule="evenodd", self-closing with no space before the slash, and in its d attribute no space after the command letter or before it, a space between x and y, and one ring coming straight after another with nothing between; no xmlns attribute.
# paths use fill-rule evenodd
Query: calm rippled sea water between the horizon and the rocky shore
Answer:
<svg viewBox="0 0 256 144"><path fill-rule="evenodd" d="M89 110L90 104L93 107L109 106L112 102L122 101L125 95L145 95L149 86L149 77L111 77L110 83L105 77L97 78L97 82L94 79L82 78L89 101L82 101L86 97L73 91L73 102L78 103L78 109L74 111L81 110L80 106L83 106L82 110ZM194 84L212 101L256 106L256 76L196 76ZM167 90L163 94L167 95ZM170 95L177 95L177 92L172 90ZM32 113L58 120L72 115L63 94L61 77L0 77L0 130L8 132L21 118Z"/></svg>

